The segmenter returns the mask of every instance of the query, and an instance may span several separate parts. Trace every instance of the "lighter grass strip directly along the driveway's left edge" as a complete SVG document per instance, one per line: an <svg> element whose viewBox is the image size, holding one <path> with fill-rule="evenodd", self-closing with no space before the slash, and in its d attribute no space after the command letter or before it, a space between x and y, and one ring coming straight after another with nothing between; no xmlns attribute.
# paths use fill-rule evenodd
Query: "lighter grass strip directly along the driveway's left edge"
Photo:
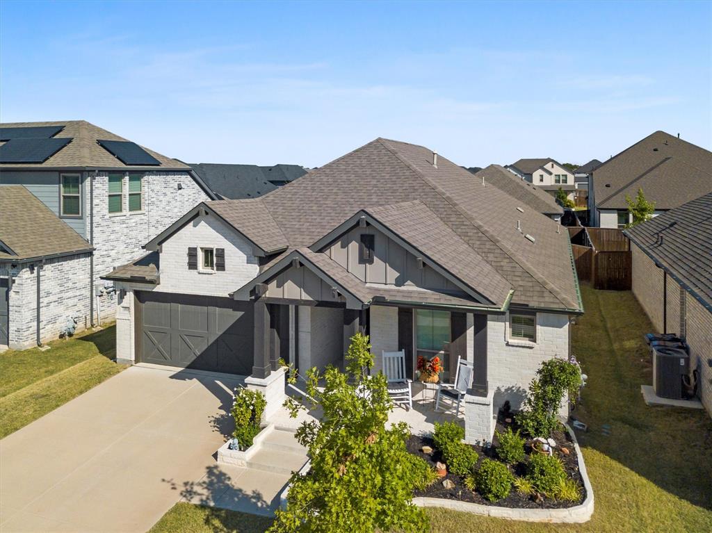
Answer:
<svg viewBox="0 0 712 533"><path fill-rule="evenodd" d="M0 398L0 438L23 428L123 369L125 366L103 355L94 355Z"/></svg>

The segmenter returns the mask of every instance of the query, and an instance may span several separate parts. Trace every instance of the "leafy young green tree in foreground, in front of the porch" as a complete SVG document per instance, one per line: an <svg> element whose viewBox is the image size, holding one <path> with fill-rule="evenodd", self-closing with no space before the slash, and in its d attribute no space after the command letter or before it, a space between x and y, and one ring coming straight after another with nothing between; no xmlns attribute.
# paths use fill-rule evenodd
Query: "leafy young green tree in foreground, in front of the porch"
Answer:
<svg viewBox="0 0 712 533"><path fill-rule="evenodd" d="M323 416L304 422L296 437L308 448L311 470L292 476L286 510L276 512L270 532L426 531L426 515L412 497L429 469L408 453L405 423L386 429L392 402L383 374L368 375L370 348L368 337L357 333L345 372L308 371L310 407L322 408ZM285 406L292 416L303 408L293 399Z"/></svg>

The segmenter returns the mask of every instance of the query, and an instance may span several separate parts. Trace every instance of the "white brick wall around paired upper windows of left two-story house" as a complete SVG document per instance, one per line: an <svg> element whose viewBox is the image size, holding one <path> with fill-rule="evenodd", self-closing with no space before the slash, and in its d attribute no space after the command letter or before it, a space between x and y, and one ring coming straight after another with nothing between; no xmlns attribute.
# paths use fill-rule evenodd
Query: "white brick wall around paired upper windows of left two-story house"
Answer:
<svg viewBox="0 0 712 533"><path fill-rule="evenodd" d="M141 248L158 233L209 197L186 173L148 174L143 180L144 211L128 213L128 178L124 178L124 213L110 215L108 209L108 174L91 178L94 182L94 283L105 285L100 277L113 268L145 255ZM178 184L182 189L178 190ZM90 204L90 187L84 188ZM90 213L88 219L90 219ZM89 221L88 221L89 224ZM89 225L87 226L89 227ZM87 230L88 232L89 230ZM108 283L110 285L110 283ZM115 296L99 298L101 320L114 317ZM96 313L96 310L95 310ZM96 315L95 315L96 316Z"/></svg>

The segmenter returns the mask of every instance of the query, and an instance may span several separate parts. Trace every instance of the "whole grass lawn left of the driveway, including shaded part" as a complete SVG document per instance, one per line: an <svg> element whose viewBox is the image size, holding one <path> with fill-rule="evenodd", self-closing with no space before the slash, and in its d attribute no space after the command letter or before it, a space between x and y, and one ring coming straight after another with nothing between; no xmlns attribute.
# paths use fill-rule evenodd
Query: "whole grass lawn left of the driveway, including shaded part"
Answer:
<svg viewBox="0 0 712 533"><path fill-rule="evenodd" d="M51 342L51 349L0 354L0 438L122 371L115 326Z"/></svg>

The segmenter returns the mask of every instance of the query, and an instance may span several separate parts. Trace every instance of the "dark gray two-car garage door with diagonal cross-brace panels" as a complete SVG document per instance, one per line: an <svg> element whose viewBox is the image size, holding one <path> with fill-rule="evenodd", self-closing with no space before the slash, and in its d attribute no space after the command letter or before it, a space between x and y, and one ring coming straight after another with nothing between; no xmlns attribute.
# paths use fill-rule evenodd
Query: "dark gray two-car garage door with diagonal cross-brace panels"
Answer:
<svg viewBox="0 0 712 533"><path fill-rule="evenodd" d="M141 362L252 373L253 311L230 298L137 292Z"/></svg>

